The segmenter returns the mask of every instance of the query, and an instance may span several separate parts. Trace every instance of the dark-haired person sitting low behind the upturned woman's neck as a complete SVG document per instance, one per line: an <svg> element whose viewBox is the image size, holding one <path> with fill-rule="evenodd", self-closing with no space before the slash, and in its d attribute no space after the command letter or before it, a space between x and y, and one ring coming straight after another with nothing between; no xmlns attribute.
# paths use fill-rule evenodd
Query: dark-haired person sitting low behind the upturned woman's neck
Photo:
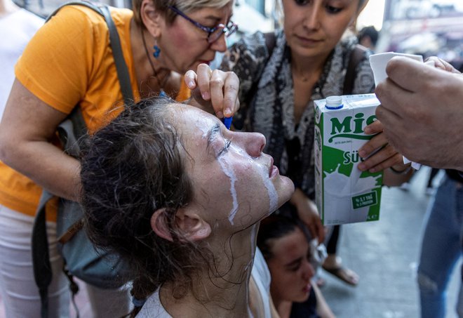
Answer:
<svg viewBox="0 0 463 318"><path fill-rule="evenodd" d="M314 251L309 241L292 218L269 216L260 223L257 246L269 266L271 298L281 318L335 317L312 284Z"/></svg>

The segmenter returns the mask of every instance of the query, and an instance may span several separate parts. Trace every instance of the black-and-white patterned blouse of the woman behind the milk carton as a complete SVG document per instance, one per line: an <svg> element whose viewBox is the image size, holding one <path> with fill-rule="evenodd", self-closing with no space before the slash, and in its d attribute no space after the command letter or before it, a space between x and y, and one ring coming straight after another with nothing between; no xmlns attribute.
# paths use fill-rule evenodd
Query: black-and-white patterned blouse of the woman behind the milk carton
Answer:
<svg viewBox="0 0 463 318"><path fill-rule="evenodd" d="M264 134L267 138L264 152L271 154L280 172L291 178L295 186L311 199L314 198L315 183L313 100L342 95L349 56L355 46L355 37L337 44L297 125L294 121L290 48L282 30L276 31L271 56L264 34L257 32L231 46L222 60L220 69L232 70L240 79L241 109L234 117L234 127ZM353 94L372 93L375 88L369 55L370 52L365 52L356 67Z"/></svg>

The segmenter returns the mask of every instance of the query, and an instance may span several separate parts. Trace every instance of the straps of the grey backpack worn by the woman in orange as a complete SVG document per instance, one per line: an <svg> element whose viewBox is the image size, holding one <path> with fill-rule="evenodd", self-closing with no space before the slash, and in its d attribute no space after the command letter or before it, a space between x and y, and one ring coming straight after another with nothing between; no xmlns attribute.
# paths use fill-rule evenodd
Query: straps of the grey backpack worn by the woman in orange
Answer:
<svg viewBox="0 0 463 318"><path fill-rule="evenodd" d="M112 20L109 8L105 4L99 6L87 1L72 1L63 4L57 8L47 20L50 20L53 15L58 13L63 6L79 5L86 6L105 18L109 29L109 44L112 47L114 62L116 64L117 76L121 86L121 92L125 103L133 101L133 91L130 84L130 76L128 73L126 61L123 58L121 41L117 32L114 21ZM83 120L80 107L74 107L74 110L68 115L67 119L58 126L58 134L64 150L67 154L78 157L80 152L79 139L86 135L87 127ZM48 236L46 232L46 204L53 197L53 194L46 190L42 190L42 194L37 207L36 218L34 220L34 227L32 229L32 263L34 265L34 279L36 285L39 287L39 294L41 298L41 317L48 318L48 286L51 284L53 277L50 263L50 254L48 251ZM67 276L69 278L69 273ZM72 301L74 303L74 296L78 291L76 284L72 284L72 278L69 279L72 291ZM74 307L75 307L74 303ZM77 312L79 317L79 312Z"/></svg>

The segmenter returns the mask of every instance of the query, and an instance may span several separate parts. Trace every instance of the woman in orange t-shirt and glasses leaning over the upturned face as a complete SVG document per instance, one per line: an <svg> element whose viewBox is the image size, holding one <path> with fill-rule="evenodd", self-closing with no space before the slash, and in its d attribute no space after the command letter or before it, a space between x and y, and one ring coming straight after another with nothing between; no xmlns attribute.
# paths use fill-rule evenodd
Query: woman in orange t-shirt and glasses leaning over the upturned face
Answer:
<svg viewBox="0 0 463 318"><path fill-rule="evenodd" d="M98 10L82 4L65 4L29 41L15 65L11 97L0 124L0 227L11 229L0 230L0 241L15 241L3 246L1 253L8 254L11 263L25 264L20 279L8 276L4 280L0 275L8 317L32 318L41 311L34 272L38 281L48 279L43 279L42 271L34 271L30 250L42 190L72 201L80 199L80 163L54 143L58 125L68 114L79 110L93 133L107 123L108 114L111 118L119 114L123 100L167 95L219 118L232 117L239 108L236 74L209 67L215 53L227 50L225 38L236 31L231 20L233 0L134 0L133 11L110 7L112 34L118 34L119 41L110 37ZM113 54L116 46L120 46L119 58ZM124 64L127 72L116 68ZM65 260L55 244L57 209L49 206L52 279L48 293L42 295L48 296L51 317L68 317ZM0 272L16 270L0 262ZM121 317L130 310L126 289L101 293L101 285L86 285L91 289L89 315Z"/></svg>

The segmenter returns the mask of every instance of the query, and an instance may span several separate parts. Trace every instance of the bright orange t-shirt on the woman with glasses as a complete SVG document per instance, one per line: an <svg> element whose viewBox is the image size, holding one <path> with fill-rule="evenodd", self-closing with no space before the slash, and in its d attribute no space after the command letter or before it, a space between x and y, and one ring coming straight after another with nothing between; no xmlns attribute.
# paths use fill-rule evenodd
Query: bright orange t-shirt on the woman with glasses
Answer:
<svg viewBox="0 0 463 318"><path fill-rule="evenodd" d="M135 101L140 93L130 46L133 12L111 8L121 40ZM121 112L123 103L116 65L109 46L105 19L84 6L65 6L46 22L29 42L15 66L16 78L37 98L69 114L82 109L90 132ZM190 91L182 79L176 99L186 100ZM33 114L32 114L33 115ZM0 204L34 216L41 187L0 161ZM47 213L48 220L55 216Z"/></svg>

